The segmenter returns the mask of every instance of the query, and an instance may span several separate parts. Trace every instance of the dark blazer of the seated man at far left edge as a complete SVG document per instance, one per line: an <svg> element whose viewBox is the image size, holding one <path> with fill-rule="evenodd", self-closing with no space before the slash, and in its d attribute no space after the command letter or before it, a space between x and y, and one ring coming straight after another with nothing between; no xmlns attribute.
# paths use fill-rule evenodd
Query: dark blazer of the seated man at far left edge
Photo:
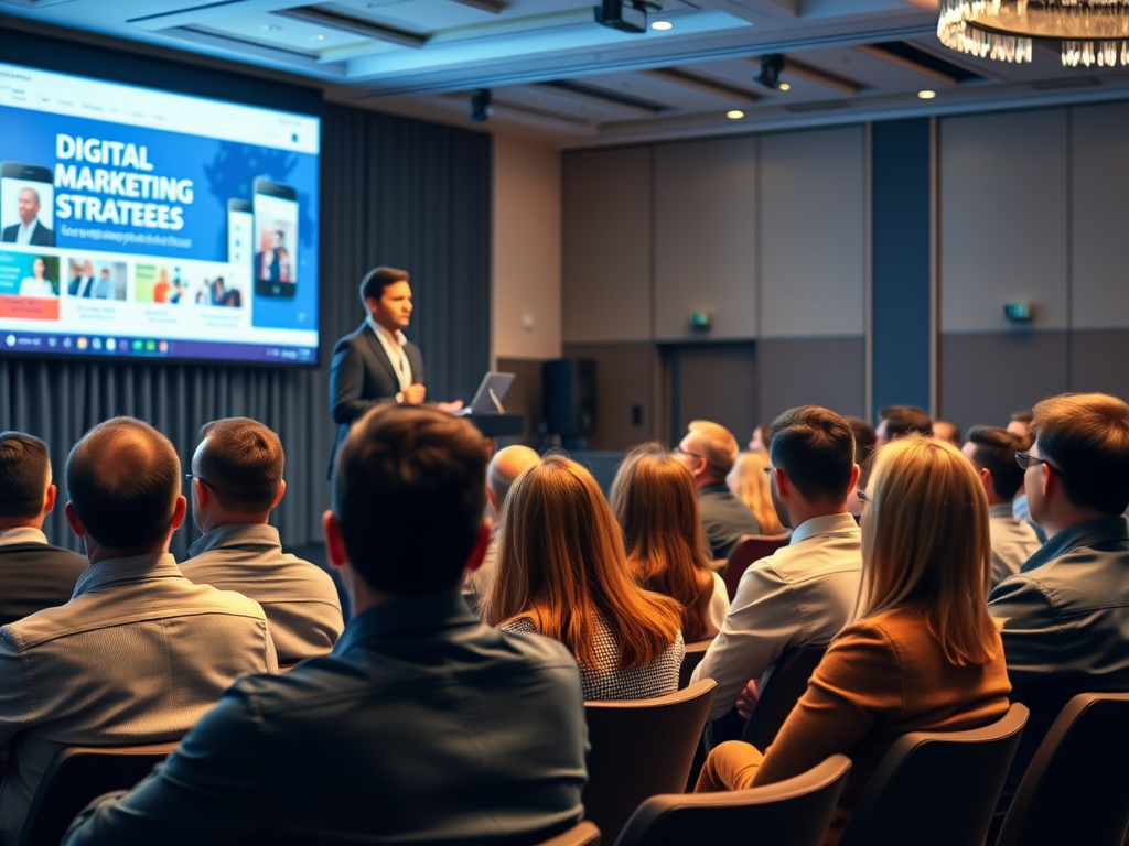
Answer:
<svg viewBox="0 0 1129 846"><path fill-rule="evenodd" d="M78 553L49 544L0 546L0 626L69 602L89 565Z"/></svg>

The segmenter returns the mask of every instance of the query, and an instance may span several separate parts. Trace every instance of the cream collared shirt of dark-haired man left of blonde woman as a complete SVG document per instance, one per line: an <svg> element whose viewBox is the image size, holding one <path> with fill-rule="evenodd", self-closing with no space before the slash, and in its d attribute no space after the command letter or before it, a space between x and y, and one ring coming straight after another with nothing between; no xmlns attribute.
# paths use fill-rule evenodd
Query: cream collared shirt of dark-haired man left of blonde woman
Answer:
<svg viewBox="0 0 1129 846"><path fill-rule="evenodd" d="M830 643L855 611L861 569L861 532L850 514L804 521L788 546L749 567L691 678L717 681L709 719L725 716L750 679L767 681L787 650Z"/></svg>

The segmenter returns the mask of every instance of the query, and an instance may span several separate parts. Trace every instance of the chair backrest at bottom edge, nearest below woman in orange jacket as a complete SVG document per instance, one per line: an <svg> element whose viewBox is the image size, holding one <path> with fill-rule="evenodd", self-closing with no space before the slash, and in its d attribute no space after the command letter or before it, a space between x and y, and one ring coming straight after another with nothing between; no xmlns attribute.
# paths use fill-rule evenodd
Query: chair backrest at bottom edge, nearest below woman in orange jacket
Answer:
<svg viewBox="0 0 1129 846"><path fill-rule="evenodd" d="M832 755L777 784L723 793L651 796L628 820L616 846L820 846L850 760Z"/></svg>

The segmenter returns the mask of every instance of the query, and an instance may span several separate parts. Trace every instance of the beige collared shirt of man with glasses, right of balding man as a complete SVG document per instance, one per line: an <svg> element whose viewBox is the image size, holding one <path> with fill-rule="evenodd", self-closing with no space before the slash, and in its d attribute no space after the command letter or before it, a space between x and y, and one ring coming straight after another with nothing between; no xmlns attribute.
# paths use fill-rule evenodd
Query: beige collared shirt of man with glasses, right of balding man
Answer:
<svg viewBox="0 0 1129 846"><path fill-rule="evenodd" d="M282 552L273 526L228 523L196 538L181 572L263 607L279 666L324 655L341 636L341 600L330 574Z"/></svg>

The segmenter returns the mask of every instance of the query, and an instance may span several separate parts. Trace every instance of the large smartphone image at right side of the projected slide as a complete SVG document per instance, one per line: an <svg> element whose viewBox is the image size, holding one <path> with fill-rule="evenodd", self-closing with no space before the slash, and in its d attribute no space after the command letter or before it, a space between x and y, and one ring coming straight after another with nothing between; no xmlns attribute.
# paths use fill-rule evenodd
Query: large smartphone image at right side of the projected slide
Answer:
<svg viewBox="0 0 1129 846"><path fill-rule="evenodd" d="M298 194L287 186L255 179L255 293L294 297L298 289Z"/></svg>

